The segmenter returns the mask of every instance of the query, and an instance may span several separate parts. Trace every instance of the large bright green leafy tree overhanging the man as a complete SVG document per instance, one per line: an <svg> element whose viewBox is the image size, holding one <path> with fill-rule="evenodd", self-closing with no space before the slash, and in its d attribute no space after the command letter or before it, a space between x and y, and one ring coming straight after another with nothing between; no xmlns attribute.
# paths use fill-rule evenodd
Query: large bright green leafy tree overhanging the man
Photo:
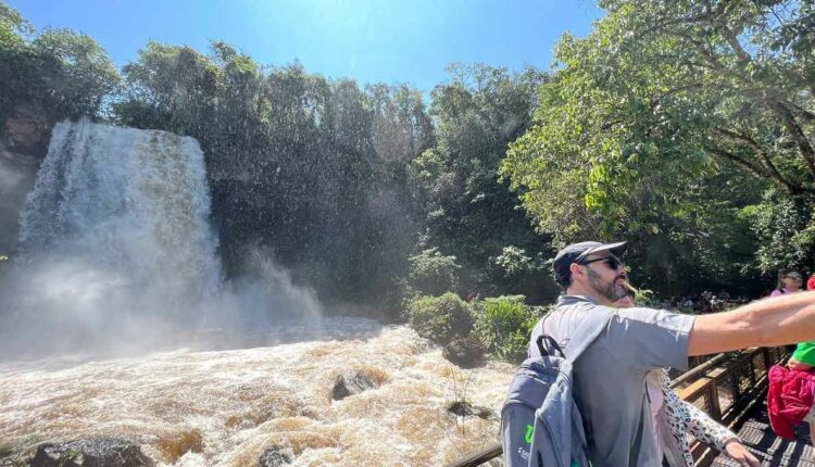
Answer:
<svg viewBox="0 0 815 467"><path fill-rule="evenodd" d="M645 266L667 269L645 273L661 286L684 257L710 266L711 254L736 277L752 256L742 209L769 187L814 193L813 4L600 4L588 37L557 45L535 124L502 174L560 243L632 239Z"/></svg>

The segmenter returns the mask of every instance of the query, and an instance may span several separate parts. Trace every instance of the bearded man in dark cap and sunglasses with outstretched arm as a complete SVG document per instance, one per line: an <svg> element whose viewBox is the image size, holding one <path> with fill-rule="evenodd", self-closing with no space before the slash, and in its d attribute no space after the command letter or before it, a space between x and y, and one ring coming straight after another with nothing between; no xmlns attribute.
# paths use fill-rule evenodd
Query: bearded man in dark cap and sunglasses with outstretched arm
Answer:
<svg viewBox="0 0 815 467"><path fill-rule="evenodd" d="M580 242L561 250L553 267L564 288L556 308L532 331L529 354L546 333L562 348L587 314L625 296L625 242ZM751 346L815 340L815 292L766 299L730 312L702 316L647 307L617 310L603 333L574 367L574 397L580 407L593 467L676 465L672 446L661 445L649 412L645 377L665 366L685 369L688 356ZM742 460L751 465L750 460Z"/></svg>

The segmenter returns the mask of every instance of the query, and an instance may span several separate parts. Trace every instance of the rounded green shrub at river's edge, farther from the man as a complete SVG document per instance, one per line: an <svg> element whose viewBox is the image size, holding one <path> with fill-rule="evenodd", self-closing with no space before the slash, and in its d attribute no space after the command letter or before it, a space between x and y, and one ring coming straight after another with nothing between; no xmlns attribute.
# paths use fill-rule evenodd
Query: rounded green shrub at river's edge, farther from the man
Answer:
<svg viewBox="0 0 815 467"><path fill-rule="evenodd" d="M408 323L423 338L438 344L454 336L466 337L473 329L471 305L453 292L440 296L418 296L408 305Z"/></svg>

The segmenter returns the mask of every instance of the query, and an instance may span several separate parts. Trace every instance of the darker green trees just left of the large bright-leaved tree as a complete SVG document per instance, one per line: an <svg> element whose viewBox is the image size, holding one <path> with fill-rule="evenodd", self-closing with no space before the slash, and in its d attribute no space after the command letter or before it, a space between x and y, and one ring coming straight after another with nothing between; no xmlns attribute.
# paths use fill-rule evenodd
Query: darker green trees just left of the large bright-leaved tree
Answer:
<svg viewBox="0 0 815 467"><path fill-rule="evenodd" d="M549 238L498 175L506 146L529 127L546 75L487 65L450 72L451 83L432 92L437 144L414 162L425 200L421 244L456 256L469 276L464 288L551 294Z"/></svg>

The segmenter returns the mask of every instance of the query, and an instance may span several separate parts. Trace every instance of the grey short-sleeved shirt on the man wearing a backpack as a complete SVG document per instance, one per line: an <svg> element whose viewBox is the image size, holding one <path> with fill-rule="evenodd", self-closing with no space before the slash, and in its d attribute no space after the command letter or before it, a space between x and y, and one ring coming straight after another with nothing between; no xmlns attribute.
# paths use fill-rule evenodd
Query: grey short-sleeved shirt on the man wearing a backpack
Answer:
<svg viewBox="0 0 815 467"><path fill-rule="evenodd" d="M541 332L565 348L582 317L602 306L587 296L564 295L532 330L529 355ZM693 316L652 308L622 308L574 367L573 395L584 419L594 467L661 466L645 375L665 366L688 367Z"/></svg>

